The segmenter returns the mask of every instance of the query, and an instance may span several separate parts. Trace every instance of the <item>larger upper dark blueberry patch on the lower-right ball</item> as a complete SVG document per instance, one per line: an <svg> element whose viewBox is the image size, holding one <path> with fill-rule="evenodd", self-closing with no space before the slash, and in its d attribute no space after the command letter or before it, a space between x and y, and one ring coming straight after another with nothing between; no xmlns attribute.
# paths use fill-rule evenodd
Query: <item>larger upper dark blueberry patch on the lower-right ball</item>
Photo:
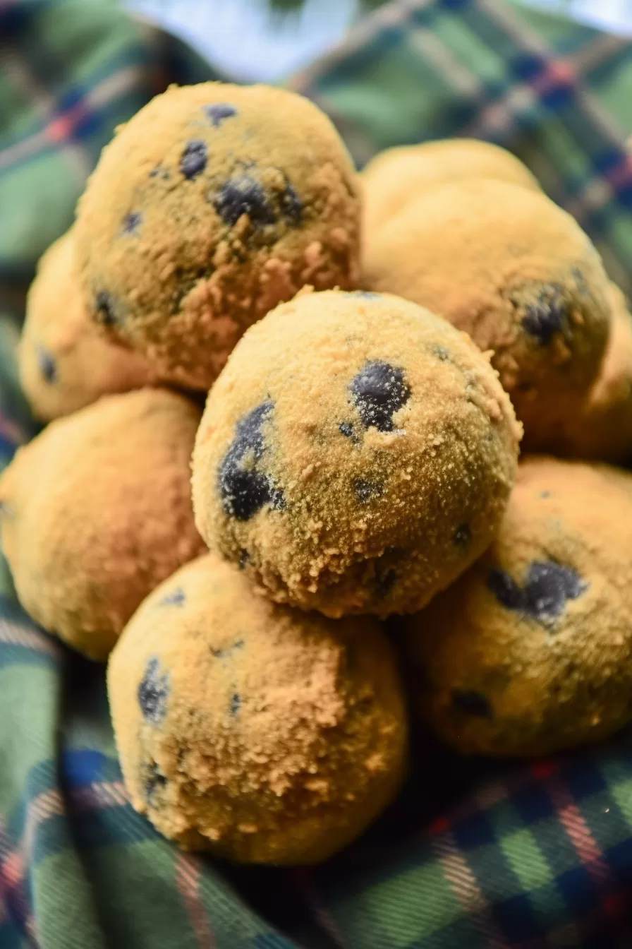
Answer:
<svg viewBox="0 0 632 949"><path fill-rule="evenodd" d="M487 586L499 603L515 609L538 623L548 623L564 612L567 600L576 600L587 584L573 568L553 561L534 561L524 588L504 570L490 570Z"/></svg>

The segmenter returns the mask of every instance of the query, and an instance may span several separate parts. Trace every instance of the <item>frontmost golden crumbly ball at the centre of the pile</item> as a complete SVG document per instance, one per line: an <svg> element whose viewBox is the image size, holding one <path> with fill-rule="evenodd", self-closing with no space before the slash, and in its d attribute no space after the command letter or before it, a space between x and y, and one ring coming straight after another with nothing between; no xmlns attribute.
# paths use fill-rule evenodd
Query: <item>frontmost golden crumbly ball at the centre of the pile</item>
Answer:
<svg viewBox="0 0 632 949"><path fill-rule="evenodd" d="M389 295L305 292L248 330L209 394L197 525L280 603L412 611L491 542L519 437L453 326Z"/></svg>

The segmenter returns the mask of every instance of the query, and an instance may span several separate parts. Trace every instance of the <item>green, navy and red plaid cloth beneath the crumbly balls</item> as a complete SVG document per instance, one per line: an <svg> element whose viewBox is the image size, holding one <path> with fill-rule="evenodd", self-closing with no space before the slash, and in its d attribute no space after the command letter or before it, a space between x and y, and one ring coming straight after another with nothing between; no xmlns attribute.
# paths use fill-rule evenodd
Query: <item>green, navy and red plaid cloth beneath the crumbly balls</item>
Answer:
<svg viewBox="0 0 632 949"><path fill-rule="evenodd" d="M98 0L0 0L0 46L2 465L33 430L12 349L37 256L113 126L210 69ZM359 160L439 135L508 144L622 279L631 75L632 49L592 30L493 0L401 0L293 84ZM417 735L402 797L327 865L184 855L127 802L102 669L29 622L4 564L0 721L2 949L632 947L632 730L515 764Z"/></svg>

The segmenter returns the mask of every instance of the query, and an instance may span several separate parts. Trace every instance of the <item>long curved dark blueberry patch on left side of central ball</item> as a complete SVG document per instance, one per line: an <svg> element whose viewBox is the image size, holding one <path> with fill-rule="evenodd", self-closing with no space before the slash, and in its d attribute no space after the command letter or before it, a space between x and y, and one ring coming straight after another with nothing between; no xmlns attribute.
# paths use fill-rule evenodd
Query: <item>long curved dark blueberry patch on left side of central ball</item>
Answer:
<svg viewBox="0 0 632 949"><path fill-rule="evenodd" d="M237 423L232 444L222 462L219 490L224 510L238 521L247 521L266 504L282 510L282 493L275 488L272 478L255 466L263 456L262 426L274 408L274 402L262 402ZM246 467L242 462L246 458Z"/></svg>

